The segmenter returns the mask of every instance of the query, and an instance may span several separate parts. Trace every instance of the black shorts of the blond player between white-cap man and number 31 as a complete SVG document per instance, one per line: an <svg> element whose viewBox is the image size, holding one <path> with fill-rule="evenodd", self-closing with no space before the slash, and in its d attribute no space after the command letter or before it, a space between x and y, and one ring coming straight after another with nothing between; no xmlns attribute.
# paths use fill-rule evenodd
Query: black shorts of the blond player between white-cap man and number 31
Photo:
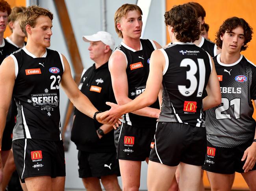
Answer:
<svg viewBox="0 0 256 191"><path fill-rule="evenodd" d="M150 144L156 127L136 127L122 123L114 132L117 158L144 161L150 154Z"/></svg>

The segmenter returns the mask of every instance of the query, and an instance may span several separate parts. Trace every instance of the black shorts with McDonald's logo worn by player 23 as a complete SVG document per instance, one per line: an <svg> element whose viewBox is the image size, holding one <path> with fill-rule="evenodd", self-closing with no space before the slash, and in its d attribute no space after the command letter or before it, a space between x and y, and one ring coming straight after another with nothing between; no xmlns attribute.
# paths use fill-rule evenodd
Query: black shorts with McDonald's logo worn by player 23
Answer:
<svg viewBox="0 0 256 191"><path fill-rule="evenodd" d="M13 158L21 182L34 176L66 176L63 141L17 139Z"/></svg>

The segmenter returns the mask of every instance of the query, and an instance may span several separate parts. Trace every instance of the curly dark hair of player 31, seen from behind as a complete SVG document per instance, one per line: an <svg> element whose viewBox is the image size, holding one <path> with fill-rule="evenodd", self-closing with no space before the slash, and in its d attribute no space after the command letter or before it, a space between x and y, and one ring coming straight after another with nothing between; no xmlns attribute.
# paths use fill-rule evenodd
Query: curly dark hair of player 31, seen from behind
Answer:
<svg viewBox="0 0 256 191"><path fill-rule="evenodd" d="M186 4L174 5L165 12L165 24L174 29L175 38L180 42L194 42L199 39L199 21L195 10Z"/></svg>

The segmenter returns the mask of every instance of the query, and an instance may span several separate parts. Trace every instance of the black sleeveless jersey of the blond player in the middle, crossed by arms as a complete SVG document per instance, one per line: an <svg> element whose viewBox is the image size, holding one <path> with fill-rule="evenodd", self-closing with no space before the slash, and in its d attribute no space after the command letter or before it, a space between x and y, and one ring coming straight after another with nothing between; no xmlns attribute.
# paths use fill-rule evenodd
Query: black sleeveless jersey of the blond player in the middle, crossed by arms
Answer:
<svg viewBox="0 0 256 191"><path fill-rule="evenodd" d="M151 53L156 49L156 45L152 40L140 39L141 49L135 51L128 47L126 44L121 44L115 51L121 51L126 56L127 68L126 75L128 81L128 97L134 100L139 96L146 88L146 83L149 74L149 63ZM158 100L149 107L159 109ZM156 118L150 118L146 116L135 115L133 113L126 113L124 120L128 125L155 127Z"/></svg>

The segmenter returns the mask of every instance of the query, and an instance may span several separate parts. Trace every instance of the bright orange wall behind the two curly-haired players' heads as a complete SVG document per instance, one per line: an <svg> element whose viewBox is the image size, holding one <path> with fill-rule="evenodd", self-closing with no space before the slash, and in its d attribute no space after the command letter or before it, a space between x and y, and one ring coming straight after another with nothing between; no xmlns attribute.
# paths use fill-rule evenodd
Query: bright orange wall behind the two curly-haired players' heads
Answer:
<svg viewBox="0 0 256 191"><path fill-rule="evenodd" d="M250 26L254 29L256 34L256 1L255 0L191 0L201 4L205 11L205 22L210 25L209 38L211 41L215 39L215 33L219 29L220 25L226 18L237 16L244 18ZM169 11L173 5L179 5L189 2L188 0L166 0L166 10ZM255 35L254 35L255 36ZM249 42L249 48L243 51L242 54L256 64L256 36L252 37ZM170 42L170 38L167 32L167 43Z"/></svg>

